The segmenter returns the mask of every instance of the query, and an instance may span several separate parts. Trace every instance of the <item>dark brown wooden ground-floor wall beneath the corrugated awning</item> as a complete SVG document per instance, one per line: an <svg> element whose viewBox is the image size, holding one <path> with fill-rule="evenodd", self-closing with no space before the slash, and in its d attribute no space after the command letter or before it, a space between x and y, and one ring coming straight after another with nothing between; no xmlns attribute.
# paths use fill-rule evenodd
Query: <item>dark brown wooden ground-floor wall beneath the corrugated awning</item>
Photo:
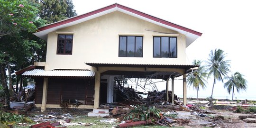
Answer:
<svg viewBox="0 0 256 128"><path fill-rule="evenodd" d="M36 93L36 104L42 103L42 86L36 85L36 91L40 91ZM94 79L49 78L46 104L60 105L62 99L82 100L85 105L93 105Z"/></svg>

